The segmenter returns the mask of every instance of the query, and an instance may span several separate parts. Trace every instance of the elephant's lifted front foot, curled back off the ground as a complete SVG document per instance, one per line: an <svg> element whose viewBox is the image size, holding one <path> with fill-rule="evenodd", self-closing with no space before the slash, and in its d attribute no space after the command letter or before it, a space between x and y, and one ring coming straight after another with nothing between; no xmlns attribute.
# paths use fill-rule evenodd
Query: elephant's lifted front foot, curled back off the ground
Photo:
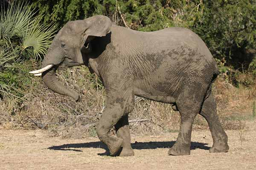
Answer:
<svg viewBox="0 0 256 170"><path fill-rule="evenodd" d="M108 145L109 152L111 156L115 156L120 147L122 146L123 139L117 138L114 136L108 137L108 142L106 144Z"/></svg>

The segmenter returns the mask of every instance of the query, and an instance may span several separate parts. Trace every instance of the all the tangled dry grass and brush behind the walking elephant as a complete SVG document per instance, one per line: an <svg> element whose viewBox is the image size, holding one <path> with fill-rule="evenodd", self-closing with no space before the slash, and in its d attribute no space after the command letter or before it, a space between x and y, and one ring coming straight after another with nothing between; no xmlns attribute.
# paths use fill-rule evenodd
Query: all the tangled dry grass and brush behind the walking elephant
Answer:
<svg viewBox="0 0 256 170"><path fill-rule="evenodd" d="M104 88L94 74L85 67L60 71L58 78L67 87L81 94L81 102L52 91L34 78L26 100L18 105L11 99L0 101L0 127L4 129L47 129L55 136L81 138L96 136L95 126L104 106ZM235 88L223 77L215 81L213 92L218 114L225 129L241 130L241 120L252 117L256 87ZM130 123L132 133L159 135L179 130L180 115L171 105L136 97L134 111L129 119L148 119L146 122ZM240 123L239 123L240 122ZM198 115L193 129L208 129L205 119ZM114 133L113 130L111 133Z"/></svg>

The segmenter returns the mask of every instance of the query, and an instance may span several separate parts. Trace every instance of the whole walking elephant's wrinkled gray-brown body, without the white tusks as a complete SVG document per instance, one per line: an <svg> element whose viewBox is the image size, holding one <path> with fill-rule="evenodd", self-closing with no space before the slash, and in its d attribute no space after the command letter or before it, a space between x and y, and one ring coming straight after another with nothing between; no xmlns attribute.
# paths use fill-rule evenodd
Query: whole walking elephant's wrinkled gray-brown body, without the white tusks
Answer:
<svg viewBox="0 0 256 170"><path fill-rule="evenodd" d="M42 74L44 83L76 101L79 94L58 82L58 67L86 65L102 79L106 107L97 134L111 155L134 155L128 127L134 95L171 103L180 112L180 132L169 155L190 154L192 123L198 113L207 120L212 133L209 151L229 149L211 93L218 68L204 42L188 29L140 32L112 25L101 15L71 21L54 38L42 67L49 64L55 67ZM108 134L113 126L117 137Z"/></svg>

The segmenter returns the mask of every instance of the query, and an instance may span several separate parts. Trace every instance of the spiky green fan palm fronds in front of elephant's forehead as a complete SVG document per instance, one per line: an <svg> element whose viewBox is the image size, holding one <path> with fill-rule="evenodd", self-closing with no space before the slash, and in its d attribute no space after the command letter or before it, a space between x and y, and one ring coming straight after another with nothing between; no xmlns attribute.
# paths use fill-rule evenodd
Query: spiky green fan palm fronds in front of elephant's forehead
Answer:
<svg viewBox="0 0 256 170"><path fill-rule="evenodd" d="M32 58L41 58L51 43L57 24L42 26L41 17L35 16L35 10L23 3L11 3L0 12L0 39L13 43L12 39L20 37L23 50L31 47ZM12 42L11 42L12 40Z"/></svg>

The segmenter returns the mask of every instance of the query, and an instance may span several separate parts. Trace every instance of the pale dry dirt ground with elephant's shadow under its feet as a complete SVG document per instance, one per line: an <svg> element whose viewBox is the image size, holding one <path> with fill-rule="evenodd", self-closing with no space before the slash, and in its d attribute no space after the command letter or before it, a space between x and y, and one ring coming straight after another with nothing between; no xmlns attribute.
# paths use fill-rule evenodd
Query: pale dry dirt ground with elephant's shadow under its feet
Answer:
<svg viewBox="0 0 256 170"><path fill-rule="evenodd" d="M209 153L209 130L192 132L191 155L168 156L177 133L134 136L135 156L106 156L98 138L61 139L43 130L0 130L0 170L256 170L256 122L227 130L230 151ZM242 143L241 143L242 142Z"/></svg>

